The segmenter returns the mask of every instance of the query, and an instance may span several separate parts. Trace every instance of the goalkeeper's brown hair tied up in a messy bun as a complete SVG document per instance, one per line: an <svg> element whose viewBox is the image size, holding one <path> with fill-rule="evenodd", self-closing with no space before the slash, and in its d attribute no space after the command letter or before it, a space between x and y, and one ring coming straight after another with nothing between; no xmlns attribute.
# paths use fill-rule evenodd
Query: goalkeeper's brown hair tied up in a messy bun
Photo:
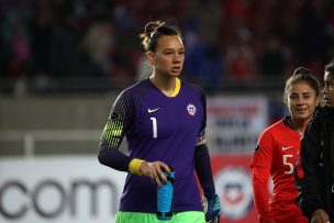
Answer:
<svg viewBox="0 0 334 223"><path fill-rule="evenodd" d="M140 34L142 45L146 52L155 52L159 37L164 35L178 35L181 37L181 32L176 26L166 25L163 21L148 22L145 25L144 33Z"/></svg>

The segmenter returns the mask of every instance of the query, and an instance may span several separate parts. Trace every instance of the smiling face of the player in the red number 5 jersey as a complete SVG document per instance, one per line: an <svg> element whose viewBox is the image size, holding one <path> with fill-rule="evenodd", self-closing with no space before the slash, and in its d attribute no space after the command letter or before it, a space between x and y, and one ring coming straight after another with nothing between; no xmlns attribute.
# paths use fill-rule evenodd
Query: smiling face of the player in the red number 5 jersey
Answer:
<svg viewBox="0 0 334 223"><path fill-rule="evenodd" d="M288 92L288 108L292 120L311 119L318 102L315 90L307 81L292 83Z"/></svg>

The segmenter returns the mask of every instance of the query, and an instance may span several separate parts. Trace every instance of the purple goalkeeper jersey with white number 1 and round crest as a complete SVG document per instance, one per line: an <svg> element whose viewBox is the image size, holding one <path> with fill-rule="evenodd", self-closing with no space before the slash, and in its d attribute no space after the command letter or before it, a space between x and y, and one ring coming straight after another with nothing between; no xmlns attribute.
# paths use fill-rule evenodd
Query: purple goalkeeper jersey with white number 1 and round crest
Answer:
<svg viewBox="0 0 334 223"><path fill-rule="evenodd" d="M145 79L118 97L103 131L100 153L107 156L118 149L125 136L130 160L160 160L174 167L175 212L201 211L193 153L196 145L205 141L205 96L201 88L181 81L179 92L167 97ZM120 211L154 213L156 194L157 186L151 178L129 174Z"/></svg>

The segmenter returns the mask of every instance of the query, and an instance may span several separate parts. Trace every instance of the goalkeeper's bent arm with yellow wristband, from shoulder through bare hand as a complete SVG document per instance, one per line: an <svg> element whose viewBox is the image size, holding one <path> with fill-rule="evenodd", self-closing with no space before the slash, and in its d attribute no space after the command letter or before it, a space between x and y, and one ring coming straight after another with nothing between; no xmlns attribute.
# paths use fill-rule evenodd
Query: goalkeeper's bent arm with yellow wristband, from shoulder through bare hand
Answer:
<svg viewBox="0 0 334 223"><path fill-rule="evenodd" d="M121 171L143 175L154 180L157 186L167 182L163 170L170 172L169 167L157 160L148 163L140 158L131 158L119 150L120 144L127 133L135 115L133 99L123 91L115 100L100 141L99 161Z"/></svg>

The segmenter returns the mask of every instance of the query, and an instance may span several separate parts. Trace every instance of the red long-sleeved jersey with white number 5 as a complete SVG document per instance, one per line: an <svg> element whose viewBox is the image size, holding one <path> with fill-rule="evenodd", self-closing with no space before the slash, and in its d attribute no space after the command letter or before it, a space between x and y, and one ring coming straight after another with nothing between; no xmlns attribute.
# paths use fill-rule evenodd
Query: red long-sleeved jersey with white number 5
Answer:
<svg viewBox="0 0 334 223"><path fill-rule="evenodd" d="M253 155L254 202L260 222L308 223L296 204L298 190L294 187L293 166L300 149L301 136L285 118L267 127L260 135ZM269 202L269 175L274 192Z"/></svg>

